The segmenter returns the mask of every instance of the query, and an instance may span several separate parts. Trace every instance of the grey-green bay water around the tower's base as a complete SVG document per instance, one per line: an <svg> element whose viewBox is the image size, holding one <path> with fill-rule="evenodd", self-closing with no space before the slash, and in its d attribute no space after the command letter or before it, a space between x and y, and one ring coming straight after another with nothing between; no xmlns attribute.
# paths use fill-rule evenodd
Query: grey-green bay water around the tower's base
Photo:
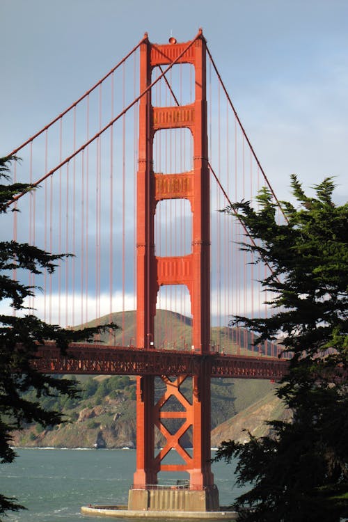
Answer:
<svg viewBox="0 0 348 522"><path fill-rule="evenodd" d="M18 457L12 464L0 465L0 493L15 496L27 510L9 512L8 522L97 522L102 519L81 515L80 507L127 505L136 464L135 450L26 448L16 452ZM212 464L221 505L230 505L243 491L235 487L234 469L233 464ZM171 478L175 480L182 475L171 474Z"/></svg>

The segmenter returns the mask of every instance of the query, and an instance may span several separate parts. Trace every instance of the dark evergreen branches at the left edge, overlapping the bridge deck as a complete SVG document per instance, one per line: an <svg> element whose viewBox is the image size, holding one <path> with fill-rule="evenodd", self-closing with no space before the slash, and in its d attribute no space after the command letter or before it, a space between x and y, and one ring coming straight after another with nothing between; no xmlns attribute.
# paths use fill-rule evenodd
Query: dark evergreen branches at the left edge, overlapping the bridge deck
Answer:
<svg viewBox="0 0 348 522"><path fill-rule="evenodd" d="M8 201L16 193L31 190L29 184L10 184L9 171L11 161L17 157L0 158L0 213L7 212ZM8 299L14 310L25 310L24 300L33 296L35 287L23 285L10 278L13 269L23 269L32 274L40 274L46 269L52 274L56 261L64 259L67 254L52 254L29 244L15 241L0 242L0 300ZM42 427L50 427L63 422L60 412L45 409L40 398L63 394L76 397L78 390L75 381L57 379L40 374L33 370L31 360L35 358L38 343L53 340L62 354L70 342L81 340L92 341L96 333L105 329L116 329L114 324L86 328L82 330L66 330L60 326L46 324L35 315L0 315L0 463L9 463L15 459L15 451L10 447L11 433L22 429L26 423L37 422ZM35 400L28 397L33 393ZM23 506L17 499L8 498L0 493L0 515L8 510L17 511Z"/></svg>

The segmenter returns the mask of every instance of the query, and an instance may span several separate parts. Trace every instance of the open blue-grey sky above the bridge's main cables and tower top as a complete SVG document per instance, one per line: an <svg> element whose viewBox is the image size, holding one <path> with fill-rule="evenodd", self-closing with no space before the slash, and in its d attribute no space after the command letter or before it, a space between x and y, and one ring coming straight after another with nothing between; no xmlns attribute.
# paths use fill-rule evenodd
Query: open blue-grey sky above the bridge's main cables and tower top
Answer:
<svg viewBox="0 0 348 522"><path fill-rule="evenodd" d="M346 0L0 0L0 152L84 93L148 31L202 26L271 183L335 175L347 200Z"/></svg>

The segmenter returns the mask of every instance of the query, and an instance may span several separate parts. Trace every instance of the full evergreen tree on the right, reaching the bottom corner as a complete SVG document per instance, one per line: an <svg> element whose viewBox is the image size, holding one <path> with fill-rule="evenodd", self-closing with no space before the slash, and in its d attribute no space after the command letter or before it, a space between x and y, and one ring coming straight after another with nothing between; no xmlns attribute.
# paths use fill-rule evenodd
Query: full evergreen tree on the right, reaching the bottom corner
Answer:
<svg viewBox="0 0 348 522"><path fill-rule="evenodd" d="M286 223L277 223L268 189L258 209L242 201L223 212L254 239L241 248L271 267L262 285L274 315L232 324L257 333L256 343L282 335L292 358L276 393L292 420L269 422L270 436L249 434L244 445L223 442L216 459L237 457L237 483L251 484L235 503L240 519L338 522L348 517L348 205L333 203L332 178L315 185L314 198L295 175L291 187L297 207L281 202Z"/></svg>

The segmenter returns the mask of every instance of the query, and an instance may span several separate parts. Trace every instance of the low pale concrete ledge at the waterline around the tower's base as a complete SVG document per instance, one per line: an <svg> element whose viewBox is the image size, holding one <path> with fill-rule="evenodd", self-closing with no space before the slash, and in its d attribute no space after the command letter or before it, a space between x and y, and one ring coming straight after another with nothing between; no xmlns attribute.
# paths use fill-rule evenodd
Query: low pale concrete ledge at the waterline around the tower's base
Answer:
<svg viewBox="0 0 348 522"><path fill-rule="evenodd" d="M237 520L235 511L228 511L228 508L221 511L148 511L127 509L127 506L83 506L81 513L94 516L114 516L119 519L137 519L145 517L148 519L196 519L196 520Z"/></svg>

